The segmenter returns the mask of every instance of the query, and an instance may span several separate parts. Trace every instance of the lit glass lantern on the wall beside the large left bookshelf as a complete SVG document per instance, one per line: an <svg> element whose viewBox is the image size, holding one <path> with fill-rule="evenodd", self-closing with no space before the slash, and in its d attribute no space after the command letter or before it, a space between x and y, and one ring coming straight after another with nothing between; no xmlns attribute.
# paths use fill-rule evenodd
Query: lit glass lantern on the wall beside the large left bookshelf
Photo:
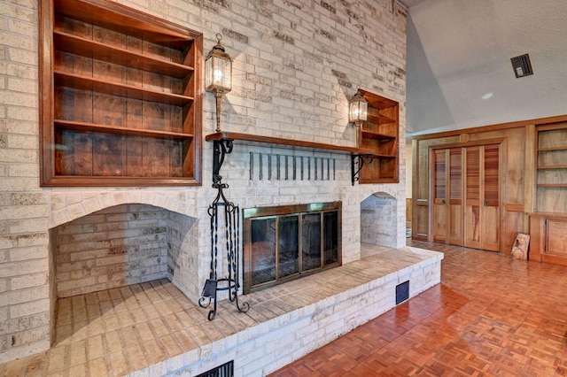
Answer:
<svg viewBox="0 0 567 377"><path fill-rule="evenodd" d="M219 39L205 60L205 90L228 93L231 89L232 59L224 51Z"/></svg>

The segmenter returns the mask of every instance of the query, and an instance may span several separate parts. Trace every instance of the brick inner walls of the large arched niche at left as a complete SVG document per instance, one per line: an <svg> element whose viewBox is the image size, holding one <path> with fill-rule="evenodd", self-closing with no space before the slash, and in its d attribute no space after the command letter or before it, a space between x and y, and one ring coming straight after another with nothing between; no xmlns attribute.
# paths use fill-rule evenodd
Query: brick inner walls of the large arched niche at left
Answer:
<svg viewBox="0 0 567 377"><path fill-rule="evenodd" d="M119 204L53 227L53 291L76 296L166 278L197 301L196 222L151 204Z"/></svg>

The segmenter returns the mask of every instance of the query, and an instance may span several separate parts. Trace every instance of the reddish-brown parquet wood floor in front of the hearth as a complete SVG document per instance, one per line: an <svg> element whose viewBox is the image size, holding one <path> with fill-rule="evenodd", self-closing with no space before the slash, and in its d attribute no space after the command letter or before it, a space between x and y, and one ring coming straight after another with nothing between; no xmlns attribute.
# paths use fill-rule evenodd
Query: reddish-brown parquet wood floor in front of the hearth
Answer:
<svg viewBox="0 0 567 377"><path fill-rule="evenodd" d="M439 285L270 376L567 375L567 267L408 245L445 253Z"/></svg>

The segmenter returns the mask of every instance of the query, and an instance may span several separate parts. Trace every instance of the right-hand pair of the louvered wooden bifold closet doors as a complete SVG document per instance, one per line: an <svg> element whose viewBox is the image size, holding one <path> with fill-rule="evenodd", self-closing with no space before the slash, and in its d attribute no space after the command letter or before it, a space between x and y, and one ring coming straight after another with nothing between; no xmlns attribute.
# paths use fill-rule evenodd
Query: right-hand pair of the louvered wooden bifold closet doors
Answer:
<svg viewBox="0 0 567 377"><path fill-rule="evenodd" d="M465 148L464 245L500 250L500 146Z"/></svg>

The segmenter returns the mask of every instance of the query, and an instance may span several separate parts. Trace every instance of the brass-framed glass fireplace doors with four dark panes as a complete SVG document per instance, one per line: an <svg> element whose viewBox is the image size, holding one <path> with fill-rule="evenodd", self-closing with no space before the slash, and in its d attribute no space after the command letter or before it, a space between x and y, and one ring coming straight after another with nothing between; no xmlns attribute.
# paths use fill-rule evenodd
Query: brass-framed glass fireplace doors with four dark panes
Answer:
<svg viewBox="0 0 567 377"><path fill-rule="evenodd" d="M340 203L244 213L245 293L340 265Z"/></svg>

